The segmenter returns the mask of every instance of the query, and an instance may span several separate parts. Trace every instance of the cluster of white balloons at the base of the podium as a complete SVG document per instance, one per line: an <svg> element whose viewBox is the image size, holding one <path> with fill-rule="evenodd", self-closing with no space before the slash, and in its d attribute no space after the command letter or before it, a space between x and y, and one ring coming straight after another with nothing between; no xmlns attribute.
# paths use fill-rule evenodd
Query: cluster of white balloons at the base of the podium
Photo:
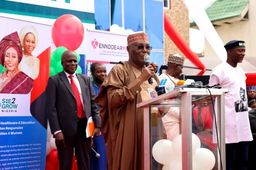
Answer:
<svg viewBox="0 0 256 170"><path fill-rule="evenodd" d="M154 159L164 165L162 170L182 170L182 134L170 140L157 141L152 148ZM215 165L215 157L212 151L200 148L200 139L192 133L192 165L193 170L211 170Z"/></svg>

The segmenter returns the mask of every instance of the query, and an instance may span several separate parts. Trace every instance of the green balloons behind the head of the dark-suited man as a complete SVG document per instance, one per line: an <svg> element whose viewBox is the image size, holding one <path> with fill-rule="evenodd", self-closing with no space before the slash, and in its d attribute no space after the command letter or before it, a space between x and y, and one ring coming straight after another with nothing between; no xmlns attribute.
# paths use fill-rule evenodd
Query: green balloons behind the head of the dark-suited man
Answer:
<svg viewBox="0 0 256 170"><path fill-rule="evenodd" d="M53 76L63 70L63 67L61 65L61 55L64 51L68 50L66 47L60 46L55 51L51 53L51 62L50 62L50 76ZM74 53L77 56L77 62L80 61L80 55L74 51ZM82 68L78 65L76 72L81 74Z"/></svg>

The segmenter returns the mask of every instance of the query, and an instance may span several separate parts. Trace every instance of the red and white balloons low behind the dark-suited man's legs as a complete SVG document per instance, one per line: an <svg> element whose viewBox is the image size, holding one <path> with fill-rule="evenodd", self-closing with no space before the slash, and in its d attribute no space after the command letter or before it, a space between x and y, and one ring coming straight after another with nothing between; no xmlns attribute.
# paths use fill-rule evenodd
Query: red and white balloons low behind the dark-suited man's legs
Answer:
<svg viewBox="0 0 256 170"><path fill-rule="evenodd" d="M50 126L48 123L45 170L53 169L59 169L58 150L55 144L55 138L53 138L53 134L51 133ZM73 156L72 170L78 170L75 152Z"/></svg>

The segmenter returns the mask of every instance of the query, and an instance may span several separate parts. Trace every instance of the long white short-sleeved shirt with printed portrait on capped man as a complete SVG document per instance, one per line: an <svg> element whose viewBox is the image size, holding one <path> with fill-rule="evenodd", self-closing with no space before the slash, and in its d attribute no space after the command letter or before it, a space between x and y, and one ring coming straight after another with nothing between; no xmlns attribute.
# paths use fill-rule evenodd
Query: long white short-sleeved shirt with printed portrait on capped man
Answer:
<svg viewBox="0 0 256 170"><path fill-rule="evenodd" d="M227 62L219 64L211 71L209 85L213 86L220 83L223 89L230 90L229 93L224 95L226 143L253 140L248 116L245 81L246 76L243 69L239 66L232 67ZM244 99L246 99L246 102ZM239 103L241 104L239 105ZM215 110L217 110L217 98ZM217 143L216 126L213 126L213 143Z"/></svg>

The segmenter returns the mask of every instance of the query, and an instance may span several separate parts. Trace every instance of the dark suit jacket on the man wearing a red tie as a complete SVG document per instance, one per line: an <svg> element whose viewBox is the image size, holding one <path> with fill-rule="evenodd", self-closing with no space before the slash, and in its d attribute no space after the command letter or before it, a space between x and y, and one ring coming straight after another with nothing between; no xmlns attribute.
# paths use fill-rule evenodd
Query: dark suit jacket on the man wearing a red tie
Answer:
<svg viewBox="0 0 256 170"><path fill-rule="evenodd" d="M87 119L92 116L96 128L100 128L99 109L95 103L95 94L90 77L77 74ZM46 87L46 115L51 132L61 130L64 136L73 136L77 131L76 99L64 71L49 77ZM85 130L85 129L84 129Z"/></svg>

